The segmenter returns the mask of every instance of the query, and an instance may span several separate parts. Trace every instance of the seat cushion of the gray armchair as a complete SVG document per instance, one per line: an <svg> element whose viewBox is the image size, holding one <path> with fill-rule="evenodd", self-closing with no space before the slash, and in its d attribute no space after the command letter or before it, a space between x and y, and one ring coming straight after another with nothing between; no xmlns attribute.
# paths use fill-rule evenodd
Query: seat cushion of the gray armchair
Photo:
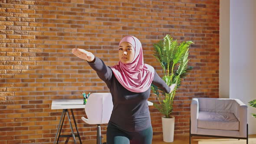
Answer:
<svg viewBox="0 0 256 144"><path fill-rule="evenodd" d="M233 113L199 111L198 128L239 130L239 121Z"/></svg>

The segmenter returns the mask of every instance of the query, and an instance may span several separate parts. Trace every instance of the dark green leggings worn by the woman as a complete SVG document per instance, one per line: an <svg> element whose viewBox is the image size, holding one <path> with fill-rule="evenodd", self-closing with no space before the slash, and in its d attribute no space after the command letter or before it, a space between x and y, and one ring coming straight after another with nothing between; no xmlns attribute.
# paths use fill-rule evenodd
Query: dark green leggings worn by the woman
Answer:
<svg viewBox="0 0 256 144"><path fill-rule="evenodd" d="M129 132L108 123L107 144L151 144L152 137L152 126L143 131Z"/></svg>

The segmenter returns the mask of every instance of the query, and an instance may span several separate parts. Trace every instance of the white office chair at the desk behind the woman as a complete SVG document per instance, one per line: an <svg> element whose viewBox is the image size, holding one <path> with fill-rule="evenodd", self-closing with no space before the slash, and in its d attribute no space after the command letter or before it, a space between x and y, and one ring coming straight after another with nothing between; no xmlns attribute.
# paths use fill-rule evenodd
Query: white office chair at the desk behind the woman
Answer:
<svg viewBox="0 0 256 144"><path fill-rule="evenodd" d="M82 117L82 120L87 124L97 124L97 144L102 144L100 124L108 124L112 109L111 93L92 93L85 104L88 119Z"/></svg>

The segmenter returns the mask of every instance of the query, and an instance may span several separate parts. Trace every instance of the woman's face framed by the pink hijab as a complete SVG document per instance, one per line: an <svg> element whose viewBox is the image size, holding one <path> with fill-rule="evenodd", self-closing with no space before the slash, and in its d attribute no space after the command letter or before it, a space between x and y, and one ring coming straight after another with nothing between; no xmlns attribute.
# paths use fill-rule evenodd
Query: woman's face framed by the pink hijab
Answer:
<svg viewBox="0 0 256 144"><path fill-rule="evenodd" d="M131 45L131 43L128 42L122 42L119 45L119 51L118 51L119 60L122 63L130 63L135 56L135 49Z"/></svg>

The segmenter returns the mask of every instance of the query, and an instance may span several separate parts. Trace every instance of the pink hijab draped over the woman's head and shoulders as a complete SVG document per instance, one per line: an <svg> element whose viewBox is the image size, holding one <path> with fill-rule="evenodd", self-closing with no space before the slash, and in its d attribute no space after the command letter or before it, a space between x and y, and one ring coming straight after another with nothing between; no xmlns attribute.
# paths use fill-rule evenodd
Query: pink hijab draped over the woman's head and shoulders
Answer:
<svg viewBox="0 0 256 144"><path fill-rule="evenodd" d="M135 56L131 63L111 67L116 79L123 87L131 92L145 92L150 88L154 78L154 68L144 64L141 42L134 36L125 36L119 43L131 43L135 49Z"/></svg>

